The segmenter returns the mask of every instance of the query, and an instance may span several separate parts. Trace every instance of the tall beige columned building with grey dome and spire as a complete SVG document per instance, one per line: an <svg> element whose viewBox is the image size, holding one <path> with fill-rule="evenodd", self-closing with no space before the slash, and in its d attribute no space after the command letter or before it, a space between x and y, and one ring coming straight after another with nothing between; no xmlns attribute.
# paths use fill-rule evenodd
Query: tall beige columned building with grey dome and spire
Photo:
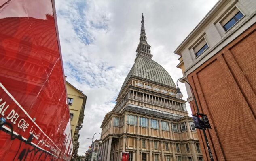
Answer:
<svg viewBox="0 0 256 161"><path fill-rule="evenodd" d="M125 79L114 109L102 128L102 161L202 161L193 119L177 99L176 85L167 71L152 60L142 15L135 63Z"/></svg>

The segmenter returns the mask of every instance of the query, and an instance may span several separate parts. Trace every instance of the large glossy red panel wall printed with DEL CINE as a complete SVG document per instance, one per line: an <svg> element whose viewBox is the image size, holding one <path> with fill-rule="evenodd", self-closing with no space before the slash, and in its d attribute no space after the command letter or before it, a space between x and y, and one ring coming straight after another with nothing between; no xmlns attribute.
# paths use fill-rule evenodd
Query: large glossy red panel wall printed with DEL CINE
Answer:
<svg viewBox="0 0 256 161"><path fill-rule="evenodd" d="M69 161L54 0L0 0L0 161Z"/></svg>

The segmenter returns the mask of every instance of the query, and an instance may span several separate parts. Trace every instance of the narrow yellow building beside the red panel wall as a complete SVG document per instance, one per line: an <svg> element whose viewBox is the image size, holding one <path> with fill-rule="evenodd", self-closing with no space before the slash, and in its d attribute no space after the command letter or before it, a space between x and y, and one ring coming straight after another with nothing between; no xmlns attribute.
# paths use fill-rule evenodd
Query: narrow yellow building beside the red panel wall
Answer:
<svg viewBox="0 0 256 161"><path fill-rule="evenodd" d="M87 96L82 91L76 89L68 81L66 81L66 88L68 93L68 105L70 110L70 122L72 130L72 140L74 143L74 152L77 154L79 148L79 130L82 128L84 119L85 103Z"/></svg>

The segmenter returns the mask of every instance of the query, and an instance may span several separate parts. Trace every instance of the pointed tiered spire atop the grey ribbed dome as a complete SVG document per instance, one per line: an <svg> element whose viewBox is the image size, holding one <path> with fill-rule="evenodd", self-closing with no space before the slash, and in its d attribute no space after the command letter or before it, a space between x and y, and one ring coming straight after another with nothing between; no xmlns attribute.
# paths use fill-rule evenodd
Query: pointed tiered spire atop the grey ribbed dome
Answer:
<svg viewBox="0 0 256 161"><path fill-rule="evenodd" d="M142 13L142 17L141 17L141 29L140 29L140 43L137 47L137 57L139 55L141 56L146 56L148 58L152 58L152 55L150 54L150 45L148 45L147 43L147 37L146 37L146 33L145 33L145 27L144 27L144 16ZM137 59L136 57L136 59ZM136 61L135 59L135 61Z"/></svg>

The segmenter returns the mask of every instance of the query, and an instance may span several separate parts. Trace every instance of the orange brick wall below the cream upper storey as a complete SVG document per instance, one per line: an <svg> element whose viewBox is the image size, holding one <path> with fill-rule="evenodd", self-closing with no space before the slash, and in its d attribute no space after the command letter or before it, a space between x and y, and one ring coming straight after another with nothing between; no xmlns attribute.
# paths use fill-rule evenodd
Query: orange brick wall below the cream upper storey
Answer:
<svg viewBox="0 0 256 161"><path fill-rule="evenodd" d="M188 75L200 112L208 115L206 131L214 160L256 160L256 24ZM194 101L190 102L195 114ZM199 132L204 160L208 157Z"/></svg>

